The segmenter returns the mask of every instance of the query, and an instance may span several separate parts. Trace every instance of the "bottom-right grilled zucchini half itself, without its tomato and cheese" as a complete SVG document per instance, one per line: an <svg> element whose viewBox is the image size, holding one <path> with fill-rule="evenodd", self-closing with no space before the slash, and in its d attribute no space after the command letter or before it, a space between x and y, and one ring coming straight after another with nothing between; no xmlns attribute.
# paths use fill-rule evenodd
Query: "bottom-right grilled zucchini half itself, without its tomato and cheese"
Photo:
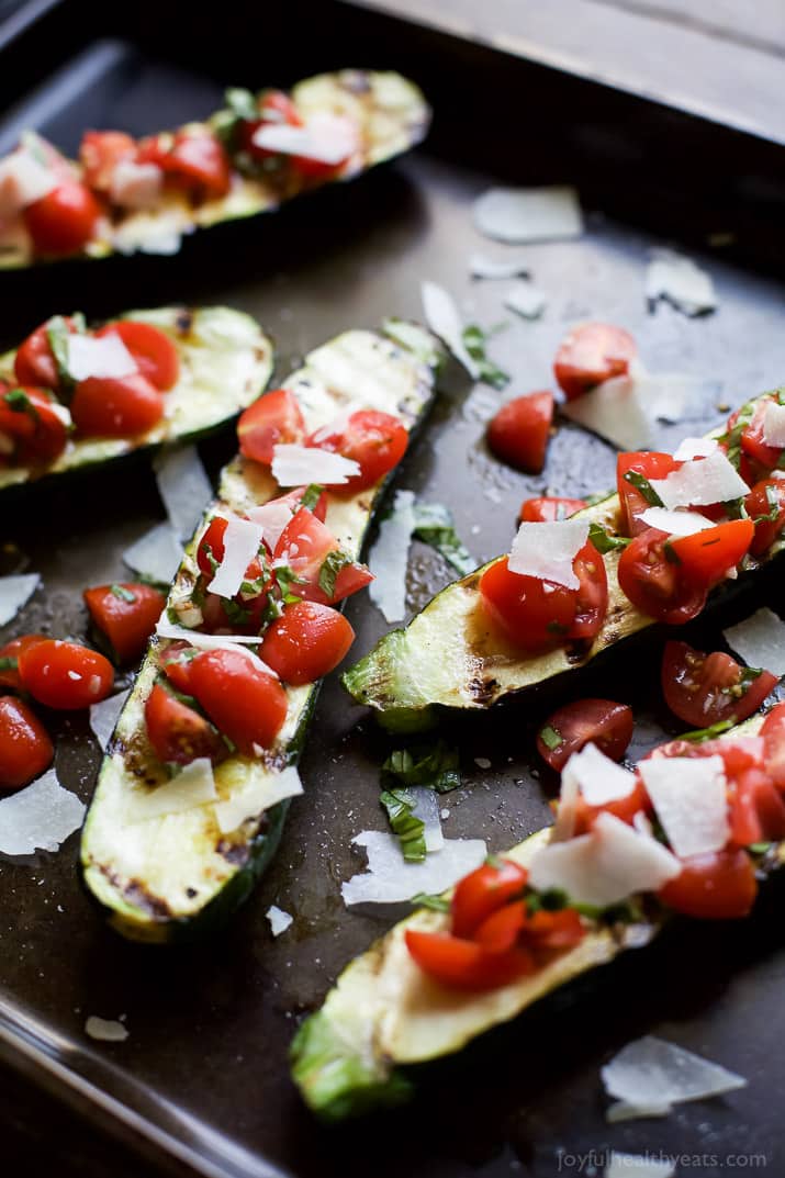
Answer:
<svg viewBox="0 0 785 1178"><path fill-rule="evenodd" d="M763 716L753 716L725 733L721 741L754 736L763 722ZM711 742L712 752L721 741ZM686 741L675 743L684 746ZM618 772L615 765L612 769ZM536 832L506 852L503 860L489 863L499 869L504 860L513 860L528 869L535 854L550 841L553 829ZM634 840L632 828L626 829L627 838ZM649 843L653 841L647 839ZM657 846L664 849L661 843ZM739 853L747 855L747 849ZM751 880L763 879L783 862L785 842L748 848ZM609 869L613 871L612 865ZM301 1025L291 1045L292 1077L319 1118L337 1121L405 1101L414 1093L414 1065L460 1051L471 1039L514 1019L579 974L606 965L625 949L649 944L674 915L672 908L664 908L651 893L633 895L628 904L603 913L581 907L583 935L576 944L570 947L569 941L562 942L561 952L539 961L523 975L484 992L469 992L429 978L407 945L408 933L443 934L450 929L448 901L454 894L455 891L448 892L441 898L447 911L418 908L356 958L339 975L323 1006ZM541 911L547 909L543 893L540 895ZM506 899L509 900L509 893ZM569 911L575 915L574 908ZM733 915L744 915L746 911ZM454 933L455 912L454 908Z"/></svg>

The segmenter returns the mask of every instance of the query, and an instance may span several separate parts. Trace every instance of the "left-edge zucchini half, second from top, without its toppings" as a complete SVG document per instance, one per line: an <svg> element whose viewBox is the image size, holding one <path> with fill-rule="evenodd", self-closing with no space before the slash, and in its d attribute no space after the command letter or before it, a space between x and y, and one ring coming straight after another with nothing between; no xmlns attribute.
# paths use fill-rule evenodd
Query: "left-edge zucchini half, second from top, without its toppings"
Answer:
<svg viewBox="0 0 785 1178"><path fill-rule="evenodd" d="M55 457L39 456L32 462L18 462L0 452L0 491L44 476L110 462L144 448L194 441L229 422L266 388L272 372L272 344L256 320L242 311L225 306L193 310L165 306L128 311L121 319L158 329L174 346L177 377L163 393L163 416L150 429L123 437L68 434L73 428L68 410L73 386L67 396L62 390L58 393L47 390L51 391L52 411L61 422L62 437L55 445L62 449ZM59 319L60 324L64 322ZM24 392L20 383L31 383L20 382L14 372L15 358L15 351L0 357L0 388L7 390L2 398L8 404L8 398ZM28 405L26 413L24 397L21 401L22 405L15 409L22 410L19 417L25 421L37 410L34 404L32 410ZM12 439L5 435L4 424L11 422L8 410L0 405L0 441L5 436L8 444Z"/></svg>

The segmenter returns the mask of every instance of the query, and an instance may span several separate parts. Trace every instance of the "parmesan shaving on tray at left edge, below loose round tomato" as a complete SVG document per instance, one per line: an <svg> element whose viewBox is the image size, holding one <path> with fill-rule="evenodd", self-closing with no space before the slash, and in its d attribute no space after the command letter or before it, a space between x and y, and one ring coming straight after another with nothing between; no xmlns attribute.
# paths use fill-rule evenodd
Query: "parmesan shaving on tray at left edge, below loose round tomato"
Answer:
<svg viewBox="0 0 785 1178"><path fill-rule="evenodd" d="M78 830L85 805L64 789L54 769L48 769L26 789L0 800L0 852L32 855L37 847L57 851Z"/></svg>

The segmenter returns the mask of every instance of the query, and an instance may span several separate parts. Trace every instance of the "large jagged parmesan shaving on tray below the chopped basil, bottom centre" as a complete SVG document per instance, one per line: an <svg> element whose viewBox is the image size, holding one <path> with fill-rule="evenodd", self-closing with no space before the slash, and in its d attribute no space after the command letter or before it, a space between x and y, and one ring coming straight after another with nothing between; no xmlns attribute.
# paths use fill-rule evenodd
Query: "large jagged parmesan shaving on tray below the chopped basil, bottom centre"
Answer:
<svg viewBox="0 0 785 1178"><path fill-rule="evenodd" d="M441 851L421 863L408 863L395 835L363 830L352 839L368 853L368 871L342 885L344 904L396 904L418 892L443 892L480 867L487 848L482 839L444 839Z"/></svg>

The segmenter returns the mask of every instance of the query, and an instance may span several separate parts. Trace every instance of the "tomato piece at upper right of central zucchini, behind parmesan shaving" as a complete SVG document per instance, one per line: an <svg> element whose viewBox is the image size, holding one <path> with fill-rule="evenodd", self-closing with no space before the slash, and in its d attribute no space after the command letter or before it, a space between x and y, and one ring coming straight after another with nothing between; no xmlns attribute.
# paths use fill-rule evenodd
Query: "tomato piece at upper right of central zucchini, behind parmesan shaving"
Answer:
<svg viewBox="0 0 785 1178"><path fill-rule="evenodd" d="M329 424L316 430L305 444L358 463L359 474L331 488L341 495L355 495L374 487L397 466L409 445L409 431L400 417L359 409L335 430Z"/></svg>

